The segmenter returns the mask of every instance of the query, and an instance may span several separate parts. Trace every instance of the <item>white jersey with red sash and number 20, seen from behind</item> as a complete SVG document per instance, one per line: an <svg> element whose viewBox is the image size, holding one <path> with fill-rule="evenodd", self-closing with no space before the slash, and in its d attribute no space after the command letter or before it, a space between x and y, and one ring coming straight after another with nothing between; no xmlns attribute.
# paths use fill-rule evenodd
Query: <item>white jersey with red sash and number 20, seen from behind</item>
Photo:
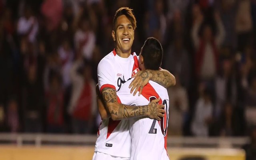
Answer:
<svg viewBox="0 0 256 160"><path fill-rule="evenodd" d="M130 94L130 82L125 83L117 93L122 104L143 106L151 100L161 98L159 104L164 104L166 114L161 121L150 118L131 118L130 134L132 137L131 160L169 160L167 154L167 127L169 114L169 96L166 88L149 81L144 86L142 94Z"/></svg>

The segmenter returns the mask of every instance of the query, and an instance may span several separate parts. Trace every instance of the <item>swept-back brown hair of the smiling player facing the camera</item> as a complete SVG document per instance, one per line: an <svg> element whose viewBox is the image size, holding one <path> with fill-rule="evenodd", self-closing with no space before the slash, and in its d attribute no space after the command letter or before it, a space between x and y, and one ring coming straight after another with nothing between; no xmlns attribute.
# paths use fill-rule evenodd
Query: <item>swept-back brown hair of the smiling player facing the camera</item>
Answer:
<svg viewBox="0 0 256 160"><path fill-rule="evenodd" d="M132 23L132 27L135 30L137 27L136 18L134 16L134 14L132 13L132 9L128 8L128 7L121 7L116 11L116 14L113 19L113 30L115 30L115 24L116 24L117 18L122 15L125 15L128 18L128 20L130 20L130 22Z"/></svg>

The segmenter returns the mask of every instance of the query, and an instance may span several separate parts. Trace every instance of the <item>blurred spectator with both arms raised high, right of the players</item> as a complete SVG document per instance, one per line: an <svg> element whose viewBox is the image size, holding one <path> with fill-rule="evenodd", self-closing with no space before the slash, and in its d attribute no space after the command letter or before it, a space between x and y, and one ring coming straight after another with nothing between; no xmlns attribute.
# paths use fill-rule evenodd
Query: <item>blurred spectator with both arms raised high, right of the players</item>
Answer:
<svg viewBox="0 0 256 160"><path fill-rule="evenodd" d="M214 36L212 26L203 24L202 36L198 36L203 20L204 16L202 14L196 15L191 32L196 48L196 75L199 80L212 80L218 70L218 49L225 37L225 32L220 16L216 13L215 20L218 26L218 34Z"/></svg>

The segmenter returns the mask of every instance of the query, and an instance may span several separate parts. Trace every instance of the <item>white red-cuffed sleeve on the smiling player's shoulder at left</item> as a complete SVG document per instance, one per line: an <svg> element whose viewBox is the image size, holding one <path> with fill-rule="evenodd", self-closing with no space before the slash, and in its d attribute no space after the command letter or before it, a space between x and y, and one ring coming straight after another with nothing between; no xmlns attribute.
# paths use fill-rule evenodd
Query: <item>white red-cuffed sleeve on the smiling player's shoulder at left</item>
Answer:
<svg viewBox="0 0 256 160"><path fill-rule="evenodd" d="M98 64L98 84L100 92L103 88L109 87L116 90L114 68L107 60L101 60Z"/></svg>

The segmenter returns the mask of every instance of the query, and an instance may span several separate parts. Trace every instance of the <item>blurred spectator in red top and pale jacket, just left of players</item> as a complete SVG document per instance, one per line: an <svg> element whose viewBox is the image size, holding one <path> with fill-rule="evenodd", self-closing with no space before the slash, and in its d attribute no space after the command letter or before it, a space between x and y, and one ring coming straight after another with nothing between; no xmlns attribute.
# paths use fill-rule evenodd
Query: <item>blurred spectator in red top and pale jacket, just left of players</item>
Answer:
<svg viewBox="0 0 256 160"><path fill-rule="evenodd" d="M72 132L88 134L92 132L93 121L96 118L96 83L92 79L90 62L83 62L82 56L72 65L70 77L72 94L68 112L72 117Z"/></svg>

